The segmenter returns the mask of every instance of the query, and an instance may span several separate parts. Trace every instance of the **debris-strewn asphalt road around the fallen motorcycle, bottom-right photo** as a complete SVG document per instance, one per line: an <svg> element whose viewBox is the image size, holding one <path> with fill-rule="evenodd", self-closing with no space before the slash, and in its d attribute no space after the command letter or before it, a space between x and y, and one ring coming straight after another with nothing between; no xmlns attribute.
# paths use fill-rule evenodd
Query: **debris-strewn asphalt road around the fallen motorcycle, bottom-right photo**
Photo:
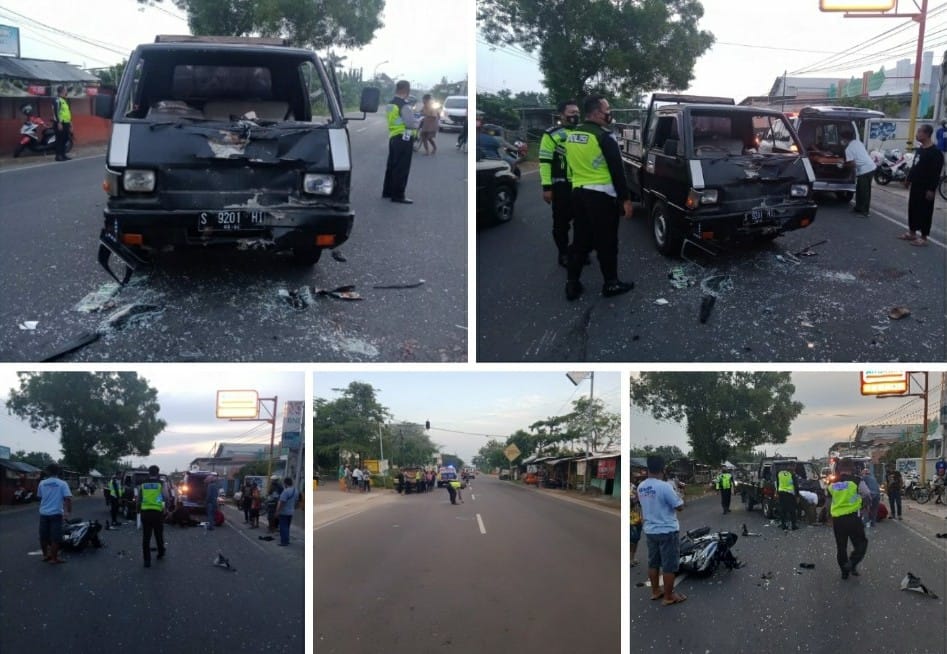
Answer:
<svg viewBox="0 0 947 654"><path fill-rule="evenodd" d="M942 517L915 510L904 500L904 520L885 520L868 531L861 576L843 581L835 561L831 527L782 531L759 509L743 510L735 496L731 513L721 515L716 496L688 503L681 529L709 526L740 534L733 552L744 567L709 578L687 577L676 588L687 601L668 607L649 601L647 546L642 538L631 569L631 650L633 652L738 651L903 652L947 651L944 598L947 548L936 533L947 531ZM803 569L799 563L812 563ZM900 590L907 572L939 598ZM763 577L767 577L764 579Z"/></svg>

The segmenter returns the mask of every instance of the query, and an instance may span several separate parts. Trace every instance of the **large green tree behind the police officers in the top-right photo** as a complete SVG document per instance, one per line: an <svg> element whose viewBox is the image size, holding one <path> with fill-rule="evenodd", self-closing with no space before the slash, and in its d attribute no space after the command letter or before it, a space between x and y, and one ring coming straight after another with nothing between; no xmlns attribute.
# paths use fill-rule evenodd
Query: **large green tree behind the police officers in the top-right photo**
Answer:
<svg viewBox="0 0 947 654"><path fill-rule="evenodd" d="M714 42L698 0L480 0L478 25L494 44L538 51L554 98L685 89Z"/></svg>

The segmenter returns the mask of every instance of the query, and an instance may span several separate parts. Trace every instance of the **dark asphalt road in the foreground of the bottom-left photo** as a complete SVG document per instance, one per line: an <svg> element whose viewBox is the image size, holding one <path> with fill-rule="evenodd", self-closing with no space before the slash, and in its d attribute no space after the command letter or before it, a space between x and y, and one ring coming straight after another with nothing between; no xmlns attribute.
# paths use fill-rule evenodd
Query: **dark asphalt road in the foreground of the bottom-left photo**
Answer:
<svg viewBox="0 0 947 654"><path fill-rule="evenodd" d="M278 537L245 530L242 514L225 514L212 532L165 525L167 556L152 553L145 568L134 523L102 531L102 549L50 565L39 553L38 504L0 513L0 651L302 654L301 530L277 547ZM74 498L73 516L104 524L105 501ZM236 572L213 565L218 550Z"/></svg>

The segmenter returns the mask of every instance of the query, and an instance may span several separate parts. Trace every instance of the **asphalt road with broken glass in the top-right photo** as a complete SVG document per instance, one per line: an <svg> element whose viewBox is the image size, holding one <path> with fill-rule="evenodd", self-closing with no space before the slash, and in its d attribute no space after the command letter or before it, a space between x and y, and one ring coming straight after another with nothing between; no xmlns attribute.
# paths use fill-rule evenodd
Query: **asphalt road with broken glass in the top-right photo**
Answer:
<svg viewBox="0 0 947 654"><path fill-rule="evenodd" d="M689 261L655 249L641 205L619 227L624 296L603 298L601 273L565 299L551 212L524 172L514 219L477 234L477 360L831 362L944 361L945 203L928 247L895 238L907 223L903 187L875 186L868 219L819 196L808 228L772 243ZM677 268L683 288L671 284ZM706 323L704 296L715 297ZM910 315L892 320L906 307Z"/></svg>

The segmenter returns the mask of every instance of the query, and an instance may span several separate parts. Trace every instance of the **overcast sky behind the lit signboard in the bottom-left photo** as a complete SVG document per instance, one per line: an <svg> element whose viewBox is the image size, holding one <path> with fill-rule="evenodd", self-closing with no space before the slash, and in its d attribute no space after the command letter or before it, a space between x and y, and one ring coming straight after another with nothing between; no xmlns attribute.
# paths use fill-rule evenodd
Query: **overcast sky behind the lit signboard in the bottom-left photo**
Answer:
<svg viewBox="0 0 947 654"><path fill-rule="evenodd" d="M193 365L141 366L139 376L158 389L158 416L168 426L155 438L148 457L132 457L137 466L156 464L163 471L186 470L195 457L211 454L216 442L270 442L270 425L257 422L218 420L215 403L218 390L256 390L261 398L276 397L279 408L276 422L276 446L283 426L283 406L287 400L305 401L305 374L274 373L254 366L231 366L221 371ZM0 369L0 445L12 452L47 452L54 459L62 456L59 434L34 431L27 421L11 416L6 399L11 388L19 388L16 372L9 366ZM266 403L267 406L272 403Z"/></svg>

